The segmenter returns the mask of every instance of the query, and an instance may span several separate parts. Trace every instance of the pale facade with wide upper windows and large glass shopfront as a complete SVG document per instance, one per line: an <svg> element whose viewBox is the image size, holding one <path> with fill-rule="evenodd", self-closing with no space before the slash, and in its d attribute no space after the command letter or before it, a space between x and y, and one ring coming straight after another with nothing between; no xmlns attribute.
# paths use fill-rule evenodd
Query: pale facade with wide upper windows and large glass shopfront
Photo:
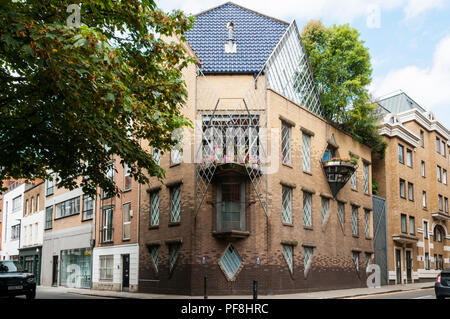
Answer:
<svg viewBox="0 0 450 319"><path fill-rule="evenodd" d="M95 199L45 181L43 286L92 287Z"/></svg>

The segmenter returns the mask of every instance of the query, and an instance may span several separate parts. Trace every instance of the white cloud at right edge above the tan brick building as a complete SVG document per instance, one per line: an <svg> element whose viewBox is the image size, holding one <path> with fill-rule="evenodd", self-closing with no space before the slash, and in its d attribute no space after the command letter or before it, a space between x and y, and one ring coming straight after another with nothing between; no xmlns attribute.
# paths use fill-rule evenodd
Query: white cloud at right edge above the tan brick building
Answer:
<svg viewBox="0 0 450 319"><path fill-rule="evenodd" d="M425 109L444 111L450 104L450 35L438 43L430 62L426 68L411 65L375 78L372 94L380 97L401 89Z"/></svg>

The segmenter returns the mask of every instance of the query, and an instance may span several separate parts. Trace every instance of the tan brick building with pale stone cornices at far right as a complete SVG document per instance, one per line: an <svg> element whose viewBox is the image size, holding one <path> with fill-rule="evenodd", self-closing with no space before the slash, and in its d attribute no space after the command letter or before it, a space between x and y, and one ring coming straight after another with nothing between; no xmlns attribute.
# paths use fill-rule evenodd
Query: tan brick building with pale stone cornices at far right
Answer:
<svg viewBox="0 0 450 319"><path fill-rule="evenodd" d="M450 132L403 92L379 104L388 147L373 176L387 204L389 282L434 280L450 263Z"/></svg>

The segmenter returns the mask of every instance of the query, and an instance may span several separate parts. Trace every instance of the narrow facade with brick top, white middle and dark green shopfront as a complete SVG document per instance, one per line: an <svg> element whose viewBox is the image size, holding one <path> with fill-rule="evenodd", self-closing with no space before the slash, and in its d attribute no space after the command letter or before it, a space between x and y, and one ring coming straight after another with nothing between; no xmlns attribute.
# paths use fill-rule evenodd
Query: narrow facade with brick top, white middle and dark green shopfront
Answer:
<svg viewBox="0 0 450 319"><path fill-rule="evenodd" d="M40 285L41 256L44 239L44 192L45 183L36 183L24 192L23 218L21 222L21 241L19 261L24 269L33 273Z"/></svg>

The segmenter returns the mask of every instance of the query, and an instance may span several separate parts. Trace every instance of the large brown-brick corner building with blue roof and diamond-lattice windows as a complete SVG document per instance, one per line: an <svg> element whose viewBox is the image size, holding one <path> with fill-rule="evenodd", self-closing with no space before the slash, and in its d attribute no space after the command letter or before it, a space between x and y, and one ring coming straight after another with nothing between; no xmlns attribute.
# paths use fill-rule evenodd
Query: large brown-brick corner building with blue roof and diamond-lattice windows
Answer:
<svg viewBox="0 0 450 319"><path fill-rule="evenodd" d="M371 149L322 118L296 24L226 3L186 37L195 127L153 150L167 173L140 192L139 291L364 287Z"/></svg>

